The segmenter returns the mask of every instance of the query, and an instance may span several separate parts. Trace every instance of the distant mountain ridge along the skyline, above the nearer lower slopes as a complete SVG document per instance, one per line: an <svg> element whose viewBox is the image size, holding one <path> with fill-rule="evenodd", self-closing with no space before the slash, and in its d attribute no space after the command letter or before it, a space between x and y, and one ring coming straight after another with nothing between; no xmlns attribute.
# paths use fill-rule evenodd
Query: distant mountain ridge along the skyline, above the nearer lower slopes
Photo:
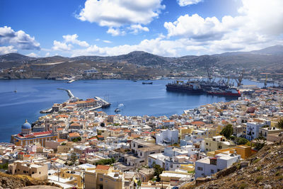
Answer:
<svg viewBox="0 0 283 189"><path fill-rule="evenodd" d="M149 52L134 51L117 56L79 56L79 57L27 57L17 53L0 56L0 68L18 67L22 64L45 64L53 62L97 62L107 64L127 63L137 67L156 67L158 69L186 70L197 67L217 66L223 69L252 68L276 69L283 72L283 46L275 45L250 52L225 52L219 55L187 55L183 57L162 57ZM67 63L69 64L69 63ZM70 65L71 66L71 65Z"/></svg>

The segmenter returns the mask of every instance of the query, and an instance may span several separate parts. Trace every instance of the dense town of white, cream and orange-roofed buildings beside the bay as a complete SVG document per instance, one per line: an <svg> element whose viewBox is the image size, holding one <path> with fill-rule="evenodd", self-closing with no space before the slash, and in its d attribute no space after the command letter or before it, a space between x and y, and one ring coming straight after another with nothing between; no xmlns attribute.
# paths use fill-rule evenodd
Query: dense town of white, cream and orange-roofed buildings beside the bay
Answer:
<svg viewBox="0 0 283 189"><path fill-rule="evenodd" d="M282 89L254 88L236 101L169 118L106 115L93 108L101 98L69 95L33 126L23 120L21 133L0 144L1 166L62 188L197 185L282 139L282 95Z"/></svg>

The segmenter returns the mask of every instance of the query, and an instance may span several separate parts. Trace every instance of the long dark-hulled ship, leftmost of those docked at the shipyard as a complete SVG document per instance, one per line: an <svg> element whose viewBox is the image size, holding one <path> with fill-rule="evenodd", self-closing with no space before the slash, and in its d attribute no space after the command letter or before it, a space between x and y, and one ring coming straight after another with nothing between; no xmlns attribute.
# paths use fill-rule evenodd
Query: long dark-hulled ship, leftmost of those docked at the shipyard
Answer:
<svg viewBox="0 0 283 189"><path fill-rule="evenodd" d="M167 91L182 91L187 93L204 93L200 84L197 81L173 81L173 83L166 84Z"/></svg>

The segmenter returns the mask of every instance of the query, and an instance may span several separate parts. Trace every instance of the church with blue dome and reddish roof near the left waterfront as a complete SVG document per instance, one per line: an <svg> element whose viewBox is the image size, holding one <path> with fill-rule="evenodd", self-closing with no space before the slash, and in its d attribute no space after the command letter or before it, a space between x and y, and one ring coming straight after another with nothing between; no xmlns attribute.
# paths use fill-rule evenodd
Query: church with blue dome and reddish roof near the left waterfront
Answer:
<svg viewBox="0 0 283 189"><path fill-rule="evenodd" d="M32 127L28 120L21 126L21 133L13 134L11 136L11 143L16 146L27 146L39 142L42 147L45 147L45 141L57 139L57 127L53 127L52 130L46 130L44 132L32 132Z"/></svg>

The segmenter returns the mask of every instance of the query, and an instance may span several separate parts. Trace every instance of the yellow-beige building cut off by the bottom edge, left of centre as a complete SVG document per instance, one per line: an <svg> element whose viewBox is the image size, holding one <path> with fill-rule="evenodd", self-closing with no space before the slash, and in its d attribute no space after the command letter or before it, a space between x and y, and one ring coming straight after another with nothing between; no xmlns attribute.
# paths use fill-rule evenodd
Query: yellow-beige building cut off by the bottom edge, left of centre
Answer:
<svg viewBox="0 0 283 189"><path fill-rule="evenodd" d="M98 165L94 170L85 172L86 189L122 189L124 188L124 173L113 170L111 166Z"/></svg>

